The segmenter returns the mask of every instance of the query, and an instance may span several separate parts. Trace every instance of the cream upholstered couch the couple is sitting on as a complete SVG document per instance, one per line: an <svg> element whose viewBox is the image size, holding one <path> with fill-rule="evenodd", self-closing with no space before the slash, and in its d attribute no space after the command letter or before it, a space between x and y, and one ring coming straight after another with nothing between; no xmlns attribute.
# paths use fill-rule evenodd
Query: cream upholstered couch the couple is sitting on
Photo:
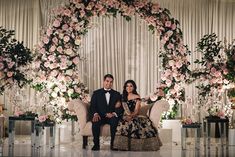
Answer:
<svg viewBox="0 0 235 157"><path fill-rule="evenodd" d="M149 116L155 127L158 127L162 113L169 109L169 103L165 100L159 100L150 105L144 103L141 105L140 115ZM88 137L92 136L92 123L88 121L89 105L75 99L69 103L69 106L73 108L77 114L80 134L83 136L83 148L86 148ZM105 124L101 127L101 136L110 136L109 125Z"/></svg>

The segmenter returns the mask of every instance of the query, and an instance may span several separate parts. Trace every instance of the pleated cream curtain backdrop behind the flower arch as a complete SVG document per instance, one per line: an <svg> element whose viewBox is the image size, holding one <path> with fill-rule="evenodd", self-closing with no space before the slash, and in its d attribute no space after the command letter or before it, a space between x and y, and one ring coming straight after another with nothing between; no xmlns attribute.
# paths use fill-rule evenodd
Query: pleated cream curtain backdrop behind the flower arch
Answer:
<svg viewBox="0 0 235 157"><path fill-rule="evenodd" d="M24 41L33 49L40 28L50 20L49 10L66 3L66 0L0 0L0 26L16 31L15 38ZM168 8L178 19L183 31L184 42L192 50L193 61L199 57L196 43L208 33L216 33L231 42L235 39L235 0L158 0L161 7ZM114 88L122 91L124 81L133 79L141 96L153 92L160 81L159 40L148 31L146 23L139 17L127 22L122 17L93 18L93 28L83 39L79 50L86 60L80 65L81 77L91 93L102 86L103 75L112 73ZM196 94L194 86L186 87L190 97ZM28 90L30 99L34 92ZM0 103L7 104L7 95ZM5 99L4 99L5 98ZM33 100L29 101L30 103Z"/></svg>

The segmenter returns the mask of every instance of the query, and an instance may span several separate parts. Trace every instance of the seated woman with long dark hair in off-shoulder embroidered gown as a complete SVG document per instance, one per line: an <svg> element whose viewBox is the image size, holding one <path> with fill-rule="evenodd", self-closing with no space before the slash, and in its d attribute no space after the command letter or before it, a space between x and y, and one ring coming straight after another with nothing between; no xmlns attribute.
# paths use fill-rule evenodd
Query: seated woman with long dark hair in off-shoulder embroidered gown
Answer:
<svg viewBox="0 0 235 157"><path fill-rule="evenodd" d="M125 114L118 124L113 149L132 151L159 150L162 142L159 139L157 129L148 117L138 115L141 99L136 88L133 80L128 80L124 84L122 105Z"/></svg>

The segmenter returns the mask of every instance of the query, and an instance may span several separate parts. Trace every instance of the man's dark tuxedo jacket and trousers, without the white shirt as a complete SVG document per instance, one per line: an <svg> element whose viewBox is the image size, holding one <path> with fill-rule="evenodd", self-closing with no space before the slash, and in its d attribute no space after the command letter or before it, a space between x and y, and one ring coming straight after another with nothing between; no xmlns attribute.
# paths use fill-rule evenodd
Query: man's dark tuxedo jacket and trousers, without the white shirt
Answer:
<svg viewBox="0 0 235 157"><path fill-rule="evenodd" d="M98 122L92 122L92 133L94 136L94 144L99 147L99 136L100 136L100 127L104 124L110 125L110 131L111 131L111 147L113 144L116 128L118 125L118 121L122 116L123 109L122 107L116 109L115 105L118 101L121 102L121 95L119 92L111 89L110 91L110 99L109 104L107 104L106 97L105 97L105 90L103 88L98 89L93 92L92 98L91 98L91 116L93 117L95 113L98 113L101 117L101 120ZM114 116L112 118L106 118L107 113L113 113L115 112L117 114L117 117Z"/></svg>

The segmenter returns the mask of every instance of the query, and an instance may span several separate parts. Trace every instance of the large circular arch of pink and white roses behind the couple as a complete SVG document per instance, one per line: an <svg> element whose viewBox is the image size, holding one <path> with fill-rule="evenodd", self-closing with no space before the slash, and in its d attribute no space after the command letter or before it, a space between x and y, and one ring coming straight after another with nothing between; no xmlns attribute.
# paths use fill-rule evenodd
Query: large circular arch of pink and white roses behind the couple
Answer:
<svg viewBox="0 0 235 157"><path fill-rule="evenodd" d="M127 20L138 15L160 37L163 72L155 96L166 97L175 107L184 100L182 84L187 77L189 51L183 44L179 22L171 17L169 10L148 0L71 0L54 9L53 20L43 30L37 45L34 62L35 87L44 88L57 109L63 104L58 103L59 99L60 102L76 98L85 101L88 96L77 72L80 62L77 50L91 18L115 17L118 13Z"/></svg>

